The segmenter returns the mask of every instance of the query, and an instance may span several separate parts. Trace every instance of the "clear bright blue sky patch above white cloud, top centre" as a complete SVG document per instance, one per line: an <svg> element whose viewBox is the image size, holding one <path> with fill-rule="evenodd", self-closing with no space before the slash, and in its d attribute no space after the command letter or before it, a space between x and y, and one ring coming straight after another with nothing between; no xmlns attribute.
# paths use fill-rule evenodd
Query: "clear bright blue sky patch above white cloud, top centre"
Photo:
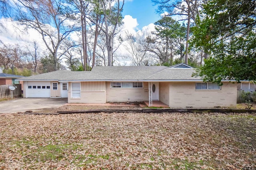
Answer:
<svg viewBox="0 0 256 170"><path fill-rule="evenodd" d="M136 18L139 24L138 29L142 29L142 27L160 19L160 15L156 14L156 8L151 0L126 0L122 15L130 15L132 18Z"/></svg>

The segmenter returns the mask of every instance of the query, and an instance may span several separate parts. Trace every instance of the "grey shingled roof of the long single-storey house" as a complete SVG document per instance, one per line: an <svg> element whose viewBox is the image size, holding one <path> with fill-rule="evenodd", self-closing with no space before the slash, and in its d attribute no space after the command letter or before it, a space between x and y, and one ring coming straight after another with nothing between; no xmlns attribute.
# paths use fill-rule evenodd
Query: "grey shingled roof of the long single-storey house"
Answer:
<svg viewBox="0 0 256 170"><path fill-rule="evenodd" d="M58 70L20 78L34 81L179 81L199 80L192 77L194 68L184 63L167 66L95 66L92 71Z"/></svg>

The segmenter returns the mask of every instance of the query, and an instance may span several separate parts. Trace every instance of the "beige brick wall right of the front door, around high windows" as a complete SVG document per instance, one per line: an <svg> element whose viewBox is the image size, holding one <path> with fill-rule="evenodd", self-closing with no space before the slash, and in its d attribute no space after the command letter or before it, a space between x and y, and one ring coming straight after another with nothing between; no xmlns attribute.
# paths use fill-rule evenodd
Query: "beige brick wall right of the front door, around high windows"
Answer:
<svg viewBox="0 0 256 170"><path fill-rule="evenodd" d="M224 82L221 90L196 90L195 82L170 83L171 108L236 106L237 85Z"/></svg>

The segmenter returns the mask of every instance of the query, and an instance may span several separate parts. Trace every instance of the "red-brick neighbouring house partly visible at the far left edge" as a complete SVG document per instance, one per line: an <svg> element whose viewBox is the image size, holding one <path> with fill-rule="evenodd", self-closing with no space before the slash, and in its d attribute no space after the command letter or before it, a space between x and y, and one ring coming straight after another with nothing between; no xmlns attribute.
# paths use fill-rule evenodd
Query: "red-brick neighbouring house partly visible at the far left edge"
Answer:
<svg viewBox="0 0 256 170"><path fill-rule="evenodd" d="M0 85L5 85L5 84L22 84L23 85L22 81L16 80L17 78L22 78L22 77L24 76L0 73Z"/></svg>

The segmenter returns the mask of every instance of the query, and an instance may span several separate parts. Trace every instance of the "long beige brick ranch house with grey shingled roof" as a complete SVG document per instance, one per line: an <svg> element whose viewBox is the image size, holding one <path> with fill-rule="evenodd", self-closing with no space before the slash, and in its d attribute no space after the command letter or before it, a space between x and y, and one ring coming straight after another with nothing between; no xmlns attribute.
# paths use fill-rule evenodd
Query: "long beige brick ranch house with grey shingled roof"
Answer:
<svg viewBox="0 0 256 170"><path fill-rule="evenodd" d="M95 66L92 71L58 70L20 78L24 98L68 98L69 103L161 101L172 108L236 106L237 85L191 77L184 63L167 66Z"/></svg>

